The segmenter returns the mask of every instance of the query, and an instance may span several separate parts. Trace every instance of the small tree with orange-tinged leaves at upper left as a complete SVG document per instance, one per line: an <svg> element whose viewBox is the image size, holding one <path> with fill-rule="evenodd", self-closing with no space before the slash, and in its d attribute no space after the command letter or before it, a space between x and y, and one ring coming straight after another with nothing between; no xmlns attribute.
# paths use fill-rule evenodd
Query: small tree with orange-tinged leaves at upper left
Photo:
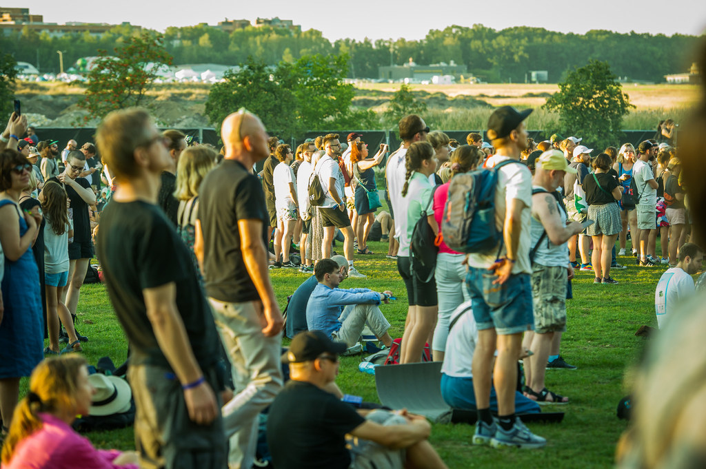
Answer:
<svg viewBox="0 0 706 469"><path fill-rule="evenodd" d="M99 51L100 58L88 72L88 87L78 106L88 111L84 121L103 118L110 111L144 104L157 72L172 65L172 56L162 46L162 35L143 32L128 37L109 56Z"/></svg>

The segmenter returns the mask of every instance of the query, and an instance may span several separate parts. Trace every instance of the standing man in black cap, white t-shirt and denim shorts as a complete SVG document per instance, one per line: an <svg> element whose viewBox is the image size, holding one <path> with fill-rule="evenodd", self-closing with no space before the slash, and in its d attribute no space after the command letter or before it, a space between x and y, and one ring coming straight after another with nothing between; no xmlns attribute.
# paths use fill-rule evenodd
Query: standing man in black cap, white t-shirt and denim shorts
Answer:
<svg viewBox="0 0 706 469"><path fill-rule="evenodd" d="M495 192L496 227L503 232L501 246L467 257L467 286L478 324L478 344L473 357L473 388L478 407L474 444L493 447L540 448L542 437L532 434L515 417L517 360L522 333L534 329L530 276L532 173L520 162L527 148L525 118L532 109L518 112L512 106L496 109L488 120L488 138L497 149L493 162L498 171ZM498 168L499 164L503 164ZM516 162L516 163L515 163ZM489 278L489 270L495 276ZM493 372L493 355L498 351ZM498 420L490 412L491 376L498 394Z"/></svg>

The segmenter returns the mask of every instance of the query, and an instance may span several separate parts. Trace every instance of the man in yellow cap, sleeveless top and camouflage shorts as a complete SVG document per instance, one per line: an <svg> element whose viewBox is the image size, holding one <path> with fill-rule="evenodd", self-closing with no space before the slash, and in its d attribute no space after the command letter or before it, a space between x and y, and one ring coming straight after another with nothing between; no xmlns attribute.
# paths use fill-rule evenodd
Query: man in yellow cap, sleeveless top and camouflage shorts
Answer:
<svg viewBox="0 0 706 469"><path fill-rule="evenodd" d="M544 386L546 363L555 332L566 331L566 287L573 277L566 241L583 230L578 221L567 222L566 209L556 189L566 173L576 173L560 150L548 150L537 159L532 178L532 298L534 334L525 333L525 396L539 404L566 404Z"/></svg>

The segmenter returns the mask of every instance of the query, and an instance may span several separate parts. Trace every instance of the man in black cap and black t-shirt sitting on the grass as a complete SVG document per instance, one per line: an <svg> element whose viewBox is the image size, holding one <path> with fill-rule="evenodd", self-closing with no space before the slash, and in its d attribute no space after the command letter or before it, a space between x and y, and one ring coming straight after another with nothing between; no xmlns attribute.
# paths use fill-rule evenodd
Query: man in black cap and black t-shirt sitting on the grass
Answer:
<svg viewBox="0 0 706 469"><path fill-rule="evenodd" d="M282 358L289 363L292 379L270 406L267 423L275 467L401 469L409 463L445 468L427 441L431 426L424 417L406 410L374 410L364 418L327 390L338 374L338 355L345 350L345 343L332 341L322 331L300 332L292 339ZM346 434L353 438L346 439Z"/></svg>

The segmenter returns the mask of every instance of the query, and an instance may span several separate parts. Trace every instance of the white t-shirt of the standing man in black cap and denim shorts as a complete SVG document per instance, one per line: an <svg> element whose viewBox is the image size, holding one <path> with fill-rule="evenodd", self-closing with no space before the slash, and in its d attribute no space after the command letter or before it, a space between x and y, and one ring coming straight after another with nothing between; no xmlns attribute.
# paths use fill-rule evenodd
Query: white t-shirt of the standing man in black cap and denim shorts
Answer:
<svg viewBox="0 0 706 469"><path fill-rule="evenodd" d="M494 164L499 164L508 157L494 155ZM503 231L505 224L505 208L513 199L525 202L520 216L521 231L520 243L517 245L517 259L513 265L513 274L532 274L530 264L530 249L532 248L532 173L522 162L509 163L498 169L498 184L495 190L495 223L499 231ZM507 253L507 246L503 242L503 249L499 257ZM477 269L487 269L498 258L498 247L488 252L480 252L468 256L468 265Z"/></svg>

